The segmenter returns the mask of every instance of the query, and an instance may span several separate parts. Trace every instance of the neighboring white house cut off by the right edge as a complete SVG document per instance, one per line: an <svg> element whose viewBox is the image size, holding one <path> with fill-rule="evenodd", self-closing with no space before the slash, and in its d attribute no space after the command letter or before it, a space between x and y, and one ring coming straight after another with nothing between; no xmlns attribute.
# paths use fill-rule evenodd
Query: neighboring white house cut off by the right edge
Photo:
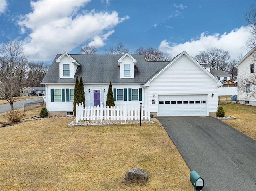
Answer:
<svg viewBox="0 0 256 191"><path fill-rule="evenodd" d="M252 49L235 65L235 67L237 67L238 69L238 86L242 84L241 79L243 79L244 77L247 77L248 79L252 79L254 77L254 80L256 79L256 63L252 55L254 51L255 50ZM248 82L244 84L245 91L241 91L238 89L238 102L241 104L256 106L256 97L252 97L252 90L255 89L256 87L252 83Z"/></svg>

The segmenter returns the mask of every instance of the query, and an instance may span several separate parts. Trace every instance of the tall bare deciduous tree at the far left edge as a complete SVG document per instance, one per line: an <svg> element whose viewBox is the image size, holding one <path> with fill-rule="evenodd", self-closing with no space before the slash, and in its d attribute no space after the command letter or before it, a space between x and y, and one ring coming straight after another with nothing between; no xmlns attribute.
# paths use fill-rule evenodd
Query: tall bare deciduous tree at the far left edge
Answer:
<svg viewBox="0 0 256 191"><path fill-rule="evenodd" d="M0 45L0 95L6 99L13 110L13 102L24 85L27 55L18 41L6 40Z"/></svg>

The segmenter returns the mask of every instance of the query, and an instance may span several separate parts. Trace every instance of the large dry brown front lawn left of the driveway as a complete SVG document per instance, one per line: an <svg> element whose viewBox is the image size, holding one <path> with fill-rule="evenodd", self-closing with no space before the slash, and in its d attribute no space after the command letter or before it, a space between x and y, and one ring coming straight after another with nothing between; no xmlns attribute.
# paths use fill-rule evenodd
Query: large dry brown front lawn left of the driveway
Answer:
<svg viewBox="0 0 256 191"><path fill-rule="evenodd" d="M70 118L0 128L0 190L192 190L190 170L159 122L71 126ZM146 183L122 183L128 169Z"/></svg>

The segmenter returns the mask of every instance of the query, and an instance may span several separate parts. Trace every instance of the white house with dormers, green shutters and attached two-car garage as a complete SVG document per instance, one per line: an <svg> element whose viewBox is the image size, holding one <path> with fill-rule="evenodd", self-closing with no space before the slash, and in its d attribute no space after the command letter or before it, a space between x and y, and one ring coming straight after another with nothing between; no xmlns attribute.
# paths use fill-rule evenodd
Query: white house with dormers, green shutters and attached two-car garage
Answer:
<svg viewBox="0 0 256 191"><path fill-rule="evenodd" d="M106 104L111 81L116 106L141 102L154 116L215 115L223 85L186 51L170 62L130 54L58 54L42 80L50 115L73 114L76 75L83 78L86 106Z"/></svg>

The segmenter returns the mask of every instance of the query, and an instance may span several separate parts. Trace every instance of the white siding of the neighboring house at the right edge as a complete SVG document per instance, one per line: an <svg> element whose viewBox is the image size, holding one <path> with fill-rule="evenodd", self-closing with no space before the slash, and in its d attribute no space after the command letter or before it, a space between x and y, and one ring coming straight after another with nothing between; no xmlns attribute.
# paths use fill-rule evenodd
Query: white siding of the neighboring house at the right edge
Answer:
<svg viewBox="0 0 256 191"><path fill-rule="evenodd" d="M252 75L256 75L256 73L250 74L250 64L252 64L252 55L248 56L240 65L238 65L238 85L241 76L248 75L248 77ZM256 65L256 64L255 64ZM255 69L256 70L256 69ZM246 87L244 87L245 89ZM250 89L252 90L254 87L251 85ZM256 106L256 98L248 98L246 92L241 93L238 91L238 101L244 104L244 101L250 101L250 105Z"/></svg>

